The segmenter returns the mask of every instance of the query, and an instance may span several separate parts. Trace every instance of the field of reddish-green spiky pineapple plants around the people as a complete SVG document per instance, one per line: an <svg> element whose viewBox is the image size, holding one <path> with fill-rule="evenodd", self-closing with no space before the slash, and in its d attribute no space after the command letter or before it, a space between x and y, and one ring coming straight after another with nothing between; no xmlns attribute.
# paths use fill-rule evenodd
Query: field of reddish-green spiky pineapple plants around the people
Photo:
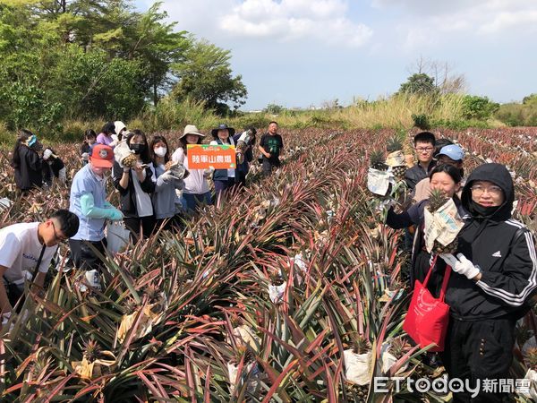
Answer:
<svg viewBox="0 0 537 403"><path fill-rule="evenodd" d="M61 244L42 293L28 291L0 339L5 402L449 401L406 380L438 379L403 330L411 293L404 236L366 186L394 130L282 133L283 165L185 221L109 256L102 292L81 291ZM537 129L435 131L465 148L465 172L507 165L515 218L537 234ZM177 133L164 133L176 145ZM413 133L404 133L404 146ZM47 145L47 144L46 144ZM388 147L387 147L388 146ZM55 146L67 171L79 145ZM0 227L69 205L68 185L17 196L0 153ZM400 176L401 169L396 171ZM110 180L108 182L111 182ZM110 184L110 201L118 196ZM517 324L515 378L537 380L537 322ZM390 377L383 391L376 377ZM397 384L396 377L404 379ZM537 382L513 399L537 399Z"/></svg>

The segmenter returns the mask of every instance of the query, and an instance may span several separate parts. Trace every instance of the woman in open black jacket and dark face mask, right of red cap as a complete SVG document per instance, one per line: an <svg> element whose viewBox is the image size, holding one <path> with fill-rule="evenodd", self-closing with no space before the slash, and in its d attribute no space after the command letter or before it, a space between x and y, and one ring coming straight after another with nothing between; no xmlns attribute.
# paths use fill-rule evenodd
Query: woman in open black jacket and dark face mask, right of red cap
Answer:
<svg viewBox="0 0 537 403"><path fill-rule="evenodd" d="M125 226L137 241L148 237L155 228L155 210L151 200L151 194L155 192L155 177L146 135L141 130L133 130L126 141L138 159L137 165L129 168L115 162L112 175L120 194Z"/></svg>

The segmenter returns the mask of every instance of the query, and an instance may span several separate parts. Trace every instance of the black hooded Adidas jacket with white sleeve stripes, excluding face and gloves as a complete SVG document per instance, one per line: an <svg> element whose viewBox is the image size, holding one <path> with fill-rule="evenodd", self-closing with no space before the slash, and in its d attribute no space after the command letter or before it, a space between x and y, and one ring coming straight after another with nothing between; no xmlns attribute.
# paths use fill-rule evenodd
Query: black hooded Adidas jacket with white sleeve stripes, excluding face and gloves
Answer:
<svg viewBox="0 0 537 403"><path fill-rule="evenodd" d="M480 180L496 184L505 196L488 216L473 207L471 187ZM524 303L537 287L537 258L532 234L511 219L515 189L507 168L500 164L475 168L461 199L469 215L458 236L458 253L479 266L482 279L476 282L452 273L446 293L451 315L467 321L524 316L529 309Z"/></svg>

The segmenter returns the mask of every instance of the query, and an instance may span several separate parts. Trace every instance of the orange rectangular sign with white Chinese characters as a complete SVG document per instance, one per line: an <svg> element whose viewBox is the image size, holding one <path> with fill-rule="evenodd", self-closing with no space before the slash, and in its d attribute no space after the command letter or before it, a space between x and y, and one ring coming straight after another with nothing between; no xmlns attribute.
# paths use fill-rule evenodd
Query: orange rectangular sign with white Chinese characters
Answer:
<svg viewBox="0 0 537 403"><path fill-rule="evenodd" d="M188 144L186 146L189 169L231 169L237 167L232 145Z"/></svg>

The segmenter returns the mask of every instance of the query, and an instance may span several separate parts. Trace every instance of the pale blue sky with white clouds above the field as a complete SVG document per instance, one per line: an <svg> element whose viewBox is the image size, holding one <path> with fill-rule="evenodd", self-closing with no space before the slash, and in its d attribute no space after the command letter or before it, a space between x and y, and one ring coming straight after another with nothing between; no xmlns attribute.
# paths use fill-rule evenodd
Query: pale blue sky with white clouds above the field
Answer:
<svg viewBox="0 0 537 403"><path fill-rule="evenodd" d="M150 0L136 0L145 10ZM320 106L398 90L437 61L497 102L537 92L535 0L164 0L178 30L230 49L243 109Z"/></svg>

